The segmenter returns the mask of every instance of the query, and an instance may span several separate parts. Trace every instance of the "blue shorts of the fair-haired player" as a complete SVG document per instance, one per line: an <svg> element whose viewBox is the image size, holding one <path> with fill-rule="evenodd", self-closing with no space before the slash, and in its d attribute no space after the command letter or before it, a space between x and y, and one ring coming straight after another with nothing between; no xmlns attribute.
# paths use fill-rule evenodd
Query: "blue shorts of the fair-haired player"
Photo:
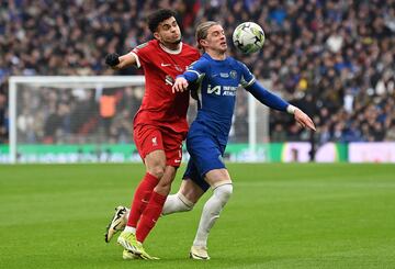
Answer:
<svg viewBox="0 0 395 269"><path fill-rule="evenodd" d="M205 175L213 169L225 168L222 158L226 147L205 128L195 124L188 133L187 149L191 158L183 175L183 179L192 179L203 191L210 189L210 184L204 180Z"/></svg>

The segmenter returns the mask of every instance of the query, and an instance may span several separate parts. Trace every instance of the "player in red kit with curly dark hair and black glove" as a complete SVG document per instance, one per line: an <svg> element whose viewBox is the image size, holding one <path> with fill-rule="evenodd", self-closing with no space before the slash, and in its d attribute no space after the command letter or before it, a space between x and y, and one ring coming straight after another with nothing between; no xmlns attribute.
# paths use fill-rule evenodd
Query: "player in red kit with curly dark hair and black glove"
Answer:
<svg viewBox="0 0 395 269"><path fill-rule="evenodd" d="M110 54L105 58L114 69L142 67L146 80L143 102L134 117L134 139L146 175L135 191L126 227L117 239L124 247L124 258L133 254L153 258L144 250L143 242L160 216L181 164L189 92L173 94L171 85L200 58L200 53L181 42L174 15L171 10L156 11L148 18L154 40L123 56Z"/></svg>

